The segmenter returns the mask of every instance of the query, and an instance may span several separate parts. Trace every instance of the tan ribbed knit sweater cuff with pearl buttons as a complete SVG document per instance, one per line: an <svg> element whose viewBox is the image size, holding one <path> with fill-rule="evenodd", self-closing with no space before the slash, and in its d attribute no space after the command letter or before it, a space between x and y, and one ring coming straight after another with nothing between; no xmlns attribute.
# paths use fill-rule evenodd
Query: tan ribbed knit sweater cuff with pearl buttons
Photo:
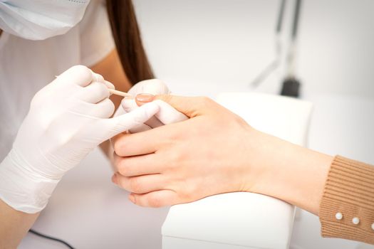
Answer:
<svg viewBox="0 0 374 249"><path fill-rule="evenodd" d="M319 209L323 237L374 244L374 166L335 157Z"/></svg>

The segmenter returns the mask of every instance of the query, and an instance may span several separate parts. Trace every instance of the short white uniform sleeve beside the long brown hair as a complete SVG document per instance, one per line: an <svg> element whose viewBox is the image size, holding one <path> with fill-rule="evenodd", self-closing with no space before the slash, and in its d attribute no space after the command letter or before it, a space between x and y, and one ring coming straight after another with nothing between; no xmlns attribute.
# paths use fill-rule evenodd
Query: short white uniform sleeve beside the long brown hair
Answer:
<svg viewBox="0 0 374 249"><path fill-rule="evenodd" d="M105 1L91 0L78 25L81 63L90 67L103 60L115 48Z"/></svg>

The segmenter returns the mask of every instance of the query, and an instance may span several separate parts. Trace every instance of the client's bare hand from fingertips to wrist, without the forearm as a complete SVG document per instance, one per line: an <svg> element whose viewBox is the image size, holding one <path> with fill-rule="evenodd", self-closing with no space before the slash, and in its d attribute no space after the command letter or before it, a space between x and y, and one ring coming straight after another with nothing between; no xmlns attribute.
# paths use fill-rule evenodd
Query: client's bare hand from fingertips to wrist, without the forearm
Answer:
<svg viewBox="0 0 374 249"><path fill-rule="evenodd" d="M260 174L247 170L254 148L246 141L255 139L254 129L205 97L160 98L190 119L116 137L113 181L133 192L130 200L158 207L251 189L248 182Z"/></svg>

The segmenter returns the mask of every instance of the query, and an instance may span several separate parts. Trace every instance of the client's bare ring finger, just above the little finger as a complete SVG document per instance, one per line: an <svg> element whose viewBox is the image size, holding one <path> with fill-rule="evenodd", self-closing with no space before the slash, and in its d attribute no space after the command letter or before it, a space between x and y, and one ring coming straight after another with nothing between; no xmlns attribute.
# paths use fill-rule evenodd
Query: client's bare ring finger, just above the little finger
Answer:
<svg viewBox="0 0 374 249"><path fill-rule="evenodd" d="M127 177L116 173L112 177L113 183L120 188L135 194L146 194L165 188L166 179L162 174L147 174L145 176Z"/></svg>

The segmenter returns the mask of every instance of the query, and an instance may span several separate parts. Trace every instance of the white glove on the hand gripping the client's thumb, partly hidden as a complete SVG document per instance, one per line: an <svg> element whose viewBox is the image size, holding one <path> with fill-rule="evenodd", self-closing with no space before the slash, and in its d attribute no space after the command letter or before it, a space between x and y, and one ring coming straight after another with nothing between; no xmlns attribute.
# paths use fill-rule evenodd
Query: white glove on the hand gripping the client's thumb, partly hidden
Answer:
<svg viewBox="0 0 374 249"><path fill-rule="evenodd" d="M140 93L165 95L170 94L170 90L161 80L153 79L140 81L140 83L135 84L133 88L128 91L128 93L133 95L133 97ZM157 112L155 117L152 117L150 120L145 122L145 124L139 124L137 127L130 129L131 133L143 132L147 129L159 127L164 124L172 124L188 119L188 117L175 110L174 107L166 102L161 100L156 100L155 102L160 106L160 111ZM139 107L137 106L135 100L125 98L122 100L120 107L118 107L118 110L115 112L115 115L121 115L125 112L132 112L137 108Z"/></svg>

